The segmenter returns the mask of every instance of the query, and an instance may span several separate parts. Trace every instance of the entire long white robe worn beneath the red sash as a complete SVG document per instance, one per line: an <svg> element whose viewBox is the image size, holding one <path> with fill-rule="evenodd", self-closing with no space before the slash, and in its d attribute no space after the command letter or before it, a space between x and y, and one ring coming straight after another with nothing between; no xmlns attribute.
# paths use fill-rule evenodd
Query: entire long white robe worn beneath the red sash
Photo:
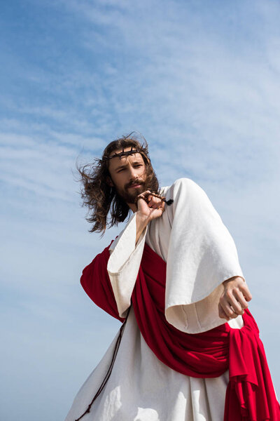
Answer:
<svg viewBox="0 0 280 421"><path fill-rule="evenodd" d="M225 323L218 316L223 281L244 275L235 243L207 194L181 178L161 193L174 199L136 242L136 214L110 247L108 272L120 316L127 314L145 242L167 262L165 316L186 333ZM241 328L241 316L231 319ZM92 401L111 363L114 338L80 388L65 421L78 418ZM165 366L142 337L133 308L127 318L111 376L83 421L223 421L228 370L195 378Z"/></svg>

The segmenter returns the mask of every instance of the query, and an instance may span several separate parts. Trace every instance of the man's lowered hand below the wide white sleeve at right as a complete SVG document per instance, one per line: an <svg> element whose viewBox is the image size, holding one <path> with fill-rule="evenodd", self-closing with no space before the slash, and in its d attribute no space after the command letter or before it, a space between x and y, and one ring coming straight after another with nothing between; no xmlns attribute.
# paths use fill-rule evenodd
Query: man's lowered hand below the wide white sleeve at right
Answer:
<svg viewBox="0 0 280 421"><path fill-rule="evenodd" d="M252 295L246 282L241 276L233 276L223 282L224 291L218 304L218 312L221 319L235 319L240 314L244 314L244 309L248 308L248 301Z"/></svg>

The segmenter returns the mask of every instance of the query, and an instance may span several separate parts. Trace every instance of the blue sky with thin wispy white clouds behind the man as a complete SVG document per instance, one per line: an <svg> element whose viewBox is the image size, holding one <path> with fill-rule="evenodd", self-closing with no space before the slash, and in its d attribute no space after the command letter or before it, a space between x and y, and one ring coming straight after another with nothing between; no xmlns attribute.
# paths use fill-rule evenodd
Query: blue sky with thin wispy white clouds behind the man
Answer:
<svg viewBox="0 0 280 421"><path fill-rule="evenodd" d="M134 130L234 237L280 394L279 21L271 0L1 6L1 419L64 420L119 328L79 279L121 227L87 231L75 162Z"/></svg>

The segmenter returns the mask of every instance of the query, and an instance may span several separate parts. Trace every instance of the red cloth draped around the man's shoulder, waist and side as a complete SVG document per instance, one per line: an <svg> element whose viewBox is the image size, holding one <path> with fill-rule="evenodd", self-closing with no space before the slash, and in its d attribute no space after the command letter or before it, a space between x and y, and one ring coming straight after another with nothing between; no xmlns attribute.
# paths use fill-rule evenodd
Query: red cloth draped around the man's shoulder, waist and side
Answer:
<svg viewBox="0 0 280 421"><path fill-rule="evenodd" d="M85 267L80 281L99 307L122 321L106 270L109 255L107 247ZM204 333L183 333L165 319L165 279L165 261L145 244L132 305L141 334L158 359L192 377L218 377L229 368L224 421L279 421L279 403L251 313L245 311L241 329L224 323Z"/></svg>

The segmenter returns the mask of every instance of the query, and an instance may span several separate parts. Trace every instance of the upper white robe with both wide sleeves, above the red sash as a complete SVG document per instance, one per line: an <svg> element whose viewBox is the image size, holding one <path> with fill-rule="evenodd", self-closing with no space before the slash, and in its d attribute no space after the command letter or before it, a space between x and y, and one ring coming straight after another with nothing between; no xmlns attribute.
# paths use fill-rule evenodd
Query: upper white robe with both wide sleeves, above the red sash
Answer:
<svg viewBox="0 0 280 421"><path fill-rule="evenodd" d="M232 236L207 194L193 180L179 178L162 194L174 199L161 218L149 223L135 248L136 213L111 244L108 272L120 316L130 307L144 242L167 262L165 316L186 333L215 328L223 281L244 275Z"/></svg>

